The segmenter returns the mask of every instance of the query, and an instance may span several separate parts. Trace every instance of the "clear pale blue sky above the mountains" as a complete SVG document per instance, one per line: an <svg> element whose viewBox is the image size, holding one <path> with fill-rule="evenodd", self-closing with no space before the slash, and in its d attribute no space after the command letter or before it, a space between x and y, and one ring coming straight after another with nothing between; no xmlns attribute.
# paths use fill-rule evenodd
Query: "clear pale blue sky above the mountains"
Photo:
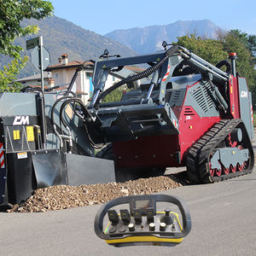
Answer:
<svg viewBox="0 0 256 256"><path fill-rule="evenodd" d="M256 0L49 0L55 15L105 35L117 29L212 20L224 30L256 34Z"/></svg>

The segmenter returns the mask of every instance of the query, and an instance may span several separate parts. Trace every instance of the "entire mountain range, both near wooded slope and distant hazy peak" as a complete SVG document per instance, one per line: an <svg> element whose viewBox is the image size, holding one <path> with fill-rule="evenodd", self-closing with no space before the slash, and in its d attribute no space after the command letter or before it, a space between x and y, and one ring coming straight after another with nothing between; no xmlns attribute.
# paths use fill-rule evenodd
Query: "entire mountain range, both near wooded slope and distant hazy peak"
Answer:
<svg viewBox="0 0 256 256"><path fill-rule="evenodd" d="M132 56L154 52L162 49L162 42L172 43L178 36L196 33L206 38L215 38L220 28L211 20L179 20L166 26L147 26L143 28L131 28L116 30L102 36L76 26L70 21L51 16L44 20L24 20L22 26L37 25L39 32L25 38L17 38L15 44L23 47L25 55L31 55L31 49L26 50L26 40L38 36L44 37L44 46L50 52L50 65L56 64L62 54L67 54L70 61L86 61L97 59L104 49L110 54ZM0 55L0 68L7 64L9 58ZM39 73L31 61L21 70L20 78Z"/></svg>

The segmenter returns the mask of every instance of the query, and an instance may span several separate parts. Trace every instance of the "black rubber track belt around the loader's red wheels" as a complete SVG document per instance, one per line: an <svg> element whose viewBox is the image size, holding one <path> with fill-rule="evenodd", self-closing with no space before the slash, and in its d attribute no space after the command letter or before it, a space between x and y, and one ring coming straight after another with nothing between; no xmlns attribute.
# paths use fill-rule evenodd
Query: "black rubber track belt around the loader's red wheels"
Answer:
<svg viewBox="0 0 256 256"><path fill-rule="evenodd" d="M224 142L234 128L241 128L243 139L241 145L249 149L249 160L241 172L230 172L220 177L212 177L209 170L209 157L214 148ZM220 147L220 146L219 146ZM241 176L253 171L253 146L247 135L247 130L241 119L223 119L207 131L191 148L187 157L187 173L194 183L214 183L231 177Z"/></svg>

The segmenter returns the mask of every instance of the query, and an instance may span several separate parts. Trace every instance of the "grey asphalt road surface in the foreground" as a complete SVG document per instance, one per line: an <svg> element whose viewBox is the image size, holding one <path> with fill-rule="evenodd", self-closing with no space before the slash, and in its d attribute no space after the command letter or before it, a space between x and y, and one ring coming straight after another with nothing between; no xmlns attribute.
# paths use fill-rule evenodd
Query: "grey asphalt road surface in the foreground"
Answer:
<svg viewBox="0 0 256 256"><path fill-rule="evenodd" d="M100 206L0 213L1 255L256 255L256 171L165 192L186 201L192 230L176 247L110 247L93 228Z"/></svg>

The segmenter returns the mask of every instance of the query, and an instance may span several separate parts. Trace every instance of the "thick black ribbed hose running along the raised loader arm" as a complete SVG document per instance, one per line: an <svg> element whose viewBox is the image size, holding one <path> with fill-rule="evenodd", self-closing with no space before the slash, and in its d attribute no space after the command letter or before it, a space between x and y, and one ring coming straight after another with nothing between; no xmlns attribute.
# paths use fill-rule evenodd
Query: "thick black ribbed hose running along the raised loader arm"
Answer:
<svg viewBox="0 0 256 256"><path fill-rule="evenodd" d="M164 62L171 57L172 55L174 55L175 53L177 53L179 47L177 45L172 46L170 49L168 49L166 51L166 55L164 56L164 58L162 60L160 60L159 62L157 62L156 64L154 64L154 66L152 67L148 67L148 69L144 70L142 73L137 73L131 77L125 78L121 81L119 81L116 84L113 84L113 86L109 87L107 90L104 90L102 92L102 94L97 98L96 103L94 105L94 108L97 110L100 108L100 104L103 101L103 99L113 90L118 89L121 85L123 84L129 84L131 82L137 81L139 79L143 79L143 78L147 78L150 74L154 73L158 68L160 68Z"/></svg>

